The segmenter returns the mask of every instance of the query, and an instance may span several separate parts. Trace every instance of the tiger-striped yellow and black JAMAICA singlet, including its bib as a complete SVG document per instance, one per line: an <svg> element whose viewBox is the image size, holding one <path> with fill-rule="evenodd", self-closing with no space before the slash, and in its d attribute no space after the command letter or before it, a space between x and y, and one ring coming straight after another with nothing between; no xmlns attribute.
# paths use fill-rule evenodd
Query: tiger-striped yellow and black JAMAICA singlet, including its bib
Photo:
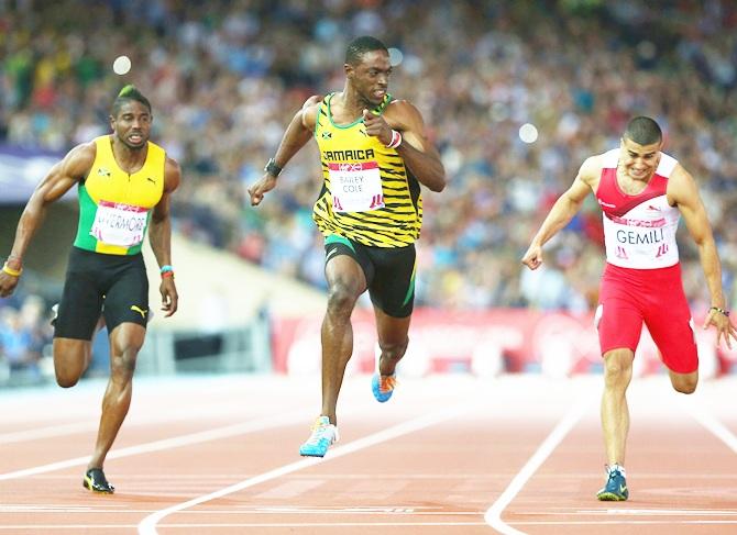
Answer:
<svg viewBox="0 0 737 535"><path fill-rule="evenodd" d="M333 122L328 94L320 103L315 137L323 185L312 219L326 236L337 234L375 247L413 244L422 225L417 179L394 148L366 135L363 119L344 126ZM392 97L373 110L381 114Z"/></svg>

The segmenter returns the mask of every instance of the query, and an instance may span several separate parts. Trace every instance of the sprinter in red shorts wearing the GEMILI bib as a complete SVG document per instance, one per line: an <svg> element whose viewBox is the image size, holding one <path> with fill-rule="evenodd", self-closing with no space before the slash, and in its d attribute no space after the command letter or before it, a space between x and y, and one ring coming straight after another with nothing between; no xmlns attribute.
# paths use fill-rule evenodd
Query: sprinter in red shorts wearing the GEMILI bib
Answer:
<svg viewBox="0 0 737 535"><path fill-rule="evenodd" d="M626 392L642 323L662 355L673 388L691 393L698 381L694 325L683 293L675 231L681 218L698 248L717 344L732 347L737 331L722 291L722 269L712 227L693 177L663 154L662 133L652 119L632 119L618 149L587 158L573 185L556 201L522 264L537 269L542 246L576 214L594 192L604 218L606 268L595 323L604 358L602 428L608 461L600 500L629 497L625 447L629 430Z"/></svg>

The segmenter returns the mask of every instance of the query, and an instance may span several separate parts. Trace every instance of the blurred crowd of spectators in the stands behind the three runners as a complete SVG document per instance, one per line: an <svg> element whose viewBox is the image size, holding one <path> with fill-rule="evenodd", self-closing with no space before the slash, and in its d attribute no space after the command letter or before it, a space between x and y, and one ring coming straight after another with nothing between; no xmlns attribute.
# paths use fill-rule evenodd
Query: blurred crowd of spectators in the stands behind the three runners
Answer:
<svg viewBox="0 0 737 535"><path fill-rule="evenodd" d="M66 151L106 133L114 94L134 82L154 107L153 140L183 165L177 230L321 286L315 144L257 209L245 189L305 99L342 89L345 45L363 34L393 48L389 91L422 112L449 177L424 192L418 304L591 310L603 267L593 198L543 269L519 259L585 157L617 147L637 114L659 121L666 152L697 179L735 304L730 0L0 0L0 143ZM121 54L133 67L116 76ZM703 310L696 250L681 245Z"/></svg>

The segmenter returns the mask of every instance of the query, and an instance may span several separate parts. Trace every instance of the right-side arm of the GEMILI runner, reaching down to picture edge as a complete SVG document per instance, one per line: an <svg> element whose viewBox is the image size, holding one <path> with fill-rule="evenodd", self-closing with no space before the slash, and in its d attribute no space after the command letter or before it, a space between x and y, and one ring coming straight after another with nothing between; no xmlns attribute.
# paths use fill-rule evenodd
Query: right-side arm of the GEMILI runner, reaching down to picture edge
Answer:
<svg viewBox="0 0 737 535"><path fill-rule="evenodd" d="M689 233L698 248L698 258L713 306L706 315L704 328L714 325L717 331L717 344L724 336L727 347L732 348L730 337L737 341L737 330L729 317L717 310L725 310L726 305L722 290L722 266L714 243L712 225L698 194L696 181L681 165L675 167L668 179L668 200L678 205Z"/></svg>

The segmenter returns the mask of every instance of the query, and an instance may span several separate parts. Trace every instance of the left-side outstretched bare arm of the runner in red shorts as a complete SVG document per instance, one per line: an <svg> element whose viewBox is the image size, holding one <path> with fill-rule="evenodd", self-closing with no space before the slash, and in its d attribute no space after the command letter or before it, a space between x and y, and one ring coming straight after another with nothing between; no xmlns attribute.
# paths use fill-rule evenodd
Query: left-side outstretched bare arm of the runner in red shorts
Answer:
<svg viewBox="0 0 737 535"><path fill-rule="evenodd" d="M586 196L592 191L591 180L601 166L595 156L587 158L571 187L558 198L550 213L540 225L540 230L532 238L527 253L522 256L522 264L530 269L537 269L542 265L542 246L553 237L558 231L563 229L581 209Z"/></svg>

